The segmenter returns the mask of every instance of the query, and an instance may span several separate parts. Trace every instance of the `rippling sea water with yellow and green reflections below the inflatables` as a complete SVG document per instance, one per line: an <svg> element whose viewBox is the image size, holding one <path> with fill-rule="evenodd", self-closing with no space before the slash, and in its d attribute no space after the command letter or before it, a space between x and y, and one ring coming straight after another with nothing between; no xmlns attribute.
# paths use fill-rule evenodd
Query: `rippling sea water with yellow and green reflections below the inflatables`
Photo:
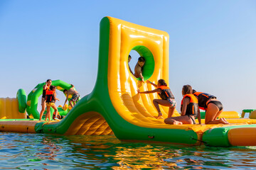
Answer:
<svg viewBox="0 0 256 170"><path fill-rule="evenodd" d="M256 147L187 147L110 136L0 132L0 169L256 169Z"/></svg>

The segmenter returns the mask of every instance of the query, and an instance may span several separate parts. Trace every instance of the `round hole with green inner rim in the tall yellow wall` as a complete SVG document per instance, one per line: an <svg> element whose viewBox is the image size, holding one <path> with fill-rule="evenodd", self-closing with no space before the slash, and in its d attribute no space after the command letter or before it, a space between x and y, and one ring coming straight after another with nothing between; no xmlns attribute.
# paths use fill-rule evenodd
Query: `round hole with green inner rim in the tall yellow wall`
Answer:
<svg viewBox="0 0 256 170"><path fill-rule="evenodd" d="M154 57L152 52L143 45L137 45L132 48L129 55L132 57L132 60L129 62L129 67L132 69L132 73L134 74L134 68L138 62L139 57L144 57L145 64L142 67L142 76L144 77L144 81L149 79L154 72ZM129 57L128 57L129 60ZM141 80L140 78L137 78Z"/></svg>

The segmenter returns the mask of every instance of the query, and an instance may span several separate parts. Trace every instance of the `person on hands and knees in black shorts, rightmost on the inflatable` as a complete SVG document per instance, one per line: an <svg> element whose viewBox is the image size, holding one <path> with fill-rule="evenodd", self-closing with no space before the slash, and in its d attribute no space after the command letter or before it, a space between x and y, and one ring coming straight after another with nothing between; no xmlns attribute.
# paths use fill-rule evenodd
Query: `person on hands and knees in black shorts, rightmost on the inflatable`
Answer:
<svg viewBox="0 0 256 170"><path fill-rule="evenodd" d="M193 95L198 98L199 108L206 111L206 124L229 124L225 118L217 119L223 111L223 105L213 95L193 90Z"/></svg>

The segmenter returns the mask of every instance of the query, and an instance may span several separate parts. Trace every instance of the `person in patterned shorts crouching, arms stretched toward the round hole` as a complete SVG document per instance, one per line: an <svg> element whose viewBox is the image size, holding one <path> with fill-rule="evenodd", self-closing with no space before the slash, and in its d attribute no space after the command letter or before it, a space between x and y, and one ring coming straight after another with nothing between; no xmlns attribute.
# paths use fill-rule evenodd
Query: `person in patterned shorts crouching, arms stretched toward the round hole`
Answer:
<svg viewBox="0 0 256 170"><path fill-rule="evenodd" d="M159 115L156 118L157 119L163 118L159 108L159 104L162 106L169 107L168 118L174 115L174 110L176 108L176 101L174 100L174 95L171 93L171 89L167 86L166 81L164 81L164 79L159 79L159 81L157 82L157 85L152 83L149 80L147 80L146 83L155 86L157 89L154 89L152 91L143 91L143 92L138 90L139 94L157 93L161 97L161 99L153 100L154 106L156 107L156 110L159 113Z"/></svg>

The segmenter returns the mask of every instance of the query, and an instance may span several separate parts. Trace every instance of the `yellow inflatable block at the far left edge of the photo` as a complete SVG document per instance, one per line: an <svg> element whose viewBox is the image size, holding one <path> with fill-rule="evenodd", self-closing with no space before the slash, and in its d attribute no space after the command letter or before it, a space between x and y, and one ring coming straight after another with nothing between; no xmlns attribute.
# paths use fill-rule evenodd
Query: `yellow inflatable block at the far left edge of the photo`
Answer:
<svg viewBox="0 0 256 170"><path fill-rule="evenodd" d="M26 118L26 113L18 112L17 98L0 98L0 119Z"/></svg>

